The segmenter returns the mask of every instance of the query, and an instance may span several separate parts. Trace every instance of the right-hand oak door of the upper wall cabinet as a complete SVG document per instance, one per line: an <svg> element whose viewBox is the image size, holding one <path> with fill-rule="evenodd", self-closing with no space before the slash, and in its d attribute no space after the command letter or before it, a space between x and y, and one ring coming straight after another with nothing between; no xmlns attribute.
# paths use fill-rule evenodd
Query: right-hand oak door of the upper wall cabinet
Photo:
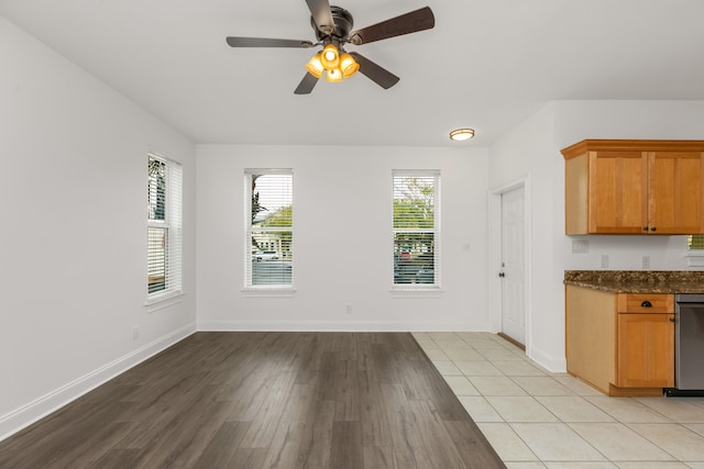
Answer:
<svg viewBox="0 0 704 469"><path fill-rule="evenodd" d="M651 234L704 233L704 154L649 153Z"/></svg>

